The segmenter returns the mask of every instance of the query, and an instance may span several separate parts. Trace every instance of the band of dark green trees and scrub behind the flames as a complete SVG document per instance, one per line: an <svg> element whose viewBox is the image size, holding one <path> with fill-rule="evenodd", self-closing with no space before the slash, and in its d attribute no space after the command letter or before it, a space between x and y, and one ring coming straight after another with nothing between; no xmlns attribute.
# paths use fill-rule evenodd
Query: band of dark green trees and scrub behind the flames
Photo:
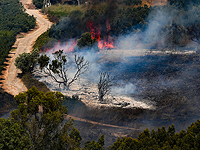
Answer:
<svg viewBox="0 0 200 150"><path fill-rule="evenodd" d="M57 24L51 27L45 37L41 37L45 42L42 42L42 46L38 48L42 47L44 50L48 38L51 41L64 42L71 38L79 39L86 32L93 32L92 38L106 39L107 36L111 36L113 40L119 35L135 33L141 39L145 39L144 44L152 48L163 46L161 43L165 43L163 47L174 48L186 46L191 40L199 42L199 2L193 0L169 0L168 2L169 4L165 6L150 8L147 5L141 6L140 0L98 2L80 7L67 4L51 6L46 11L49 19ZM193 7L188 8L192 4L194 4ZM155 36L148 39L143 31L151 24L152 15L149 16L151 12L154 14L153 17L163 12L172 17L170 20L162 17L159 20L158 16L158 22L167 23L161 30L155 32ZM147 17L148 20L146 20Z"/></svg>

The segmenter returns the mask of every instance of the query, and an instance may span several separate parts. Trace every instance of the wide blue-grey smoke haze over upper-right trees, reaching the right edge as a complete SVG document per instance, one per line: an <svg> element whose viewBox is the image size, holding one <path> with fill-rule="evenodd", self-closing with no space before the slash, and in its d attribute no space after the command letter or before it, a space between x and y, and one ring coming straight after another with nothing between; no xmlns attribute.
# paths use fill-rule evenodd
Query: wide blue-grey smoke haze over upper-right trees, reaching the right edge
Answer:
<svg viewBox="0 0 200 150"><path fill-rule="evenodd" d="M163 49L174 45L177 49L194 49L196 45L189 42L190 39L186 32L188 26L200 22L199 8L200 6L192 4L188 9L179 9L168 5L152 7L144 24L145 27L119 36L116 46L119 49L133 51L140 49L143 52L147 49ZM133 27L133 29L135 28ZM177 44L172 43L172 40Z"/></svg>

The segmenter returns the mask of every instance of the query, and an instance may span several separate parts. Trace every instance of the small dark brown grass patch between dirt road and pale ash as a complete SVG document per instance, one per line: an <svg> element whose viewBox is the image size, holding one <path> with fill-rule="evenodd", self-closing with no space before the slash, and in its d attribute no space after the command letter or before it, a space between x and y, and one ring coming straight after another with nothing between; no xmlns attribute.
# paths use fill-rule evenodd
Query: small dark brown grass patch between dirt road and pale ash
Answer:
<svg viewBox="0 0 200 150"><path fill-rule="evenodd" d="M32 88L32 86L35 86L39 91L43 91L44 93L50 91L43 82L34 79L31 73L24 74L21 80L28 89Z"/></svg>

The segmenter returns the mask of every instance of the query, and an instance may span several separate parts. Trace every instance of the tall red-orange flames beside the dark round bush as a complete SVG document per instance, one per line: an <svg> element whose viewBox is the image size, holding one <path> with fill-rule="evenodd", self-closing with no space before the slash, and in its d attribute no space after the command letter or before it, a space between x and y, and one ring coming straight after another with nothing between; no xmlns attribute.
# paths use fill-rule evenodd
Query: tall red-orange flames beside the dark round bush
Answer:
<svg viewBox="0 0 200 150"><path fill-rule="evenodd" d="M92 39L96 38L98 41L98 48L99 49L110 49L110 48L116 48L114 46L114 42L111 39L109 35L109 31L111 30L109 21L106 21L106 28L107 28L107 37L105 37L103 40L101 39L101 29L100 26L94 26L94 23L92 21L88 21L87 28L90 30Z"/></svg>

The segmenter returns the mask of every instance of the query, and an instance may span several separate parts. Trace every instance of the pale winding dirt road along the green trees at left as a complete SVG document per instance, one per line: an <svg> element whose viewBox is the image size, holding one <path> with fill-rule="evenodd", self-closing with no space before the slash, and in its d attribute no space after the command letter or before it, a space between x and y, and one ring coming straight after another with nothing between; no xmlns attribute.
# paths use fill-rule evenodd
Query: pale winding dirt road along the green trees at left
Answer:
<svg viewBox="0 0 200 150"><path fill-rule="evenodd" d="M22 4L25 6L26 12L29 15L34 15L34 17L36 17L38 28L26 34L25 37L17 39L15 43L15 46L17 47L15 54L10 55L12 58L9 60L9 64L6 70L3 72L3 78L5 79L3 81L3 88L6 92L14 96L20 92L24 92L27 90L27 88L21 82L21 80L17 78L17 75L18 73L20 73L20 70L16 69L14 65L15 58L17 58L19 54L22 54L23 52L30 52L38 36L40 36L48 28L50 28L52 24L44 18L44 16L39 12L39 10L27 8L27 5L31 4L32 0L20 0L20 2L22 2Z"/></svg>

